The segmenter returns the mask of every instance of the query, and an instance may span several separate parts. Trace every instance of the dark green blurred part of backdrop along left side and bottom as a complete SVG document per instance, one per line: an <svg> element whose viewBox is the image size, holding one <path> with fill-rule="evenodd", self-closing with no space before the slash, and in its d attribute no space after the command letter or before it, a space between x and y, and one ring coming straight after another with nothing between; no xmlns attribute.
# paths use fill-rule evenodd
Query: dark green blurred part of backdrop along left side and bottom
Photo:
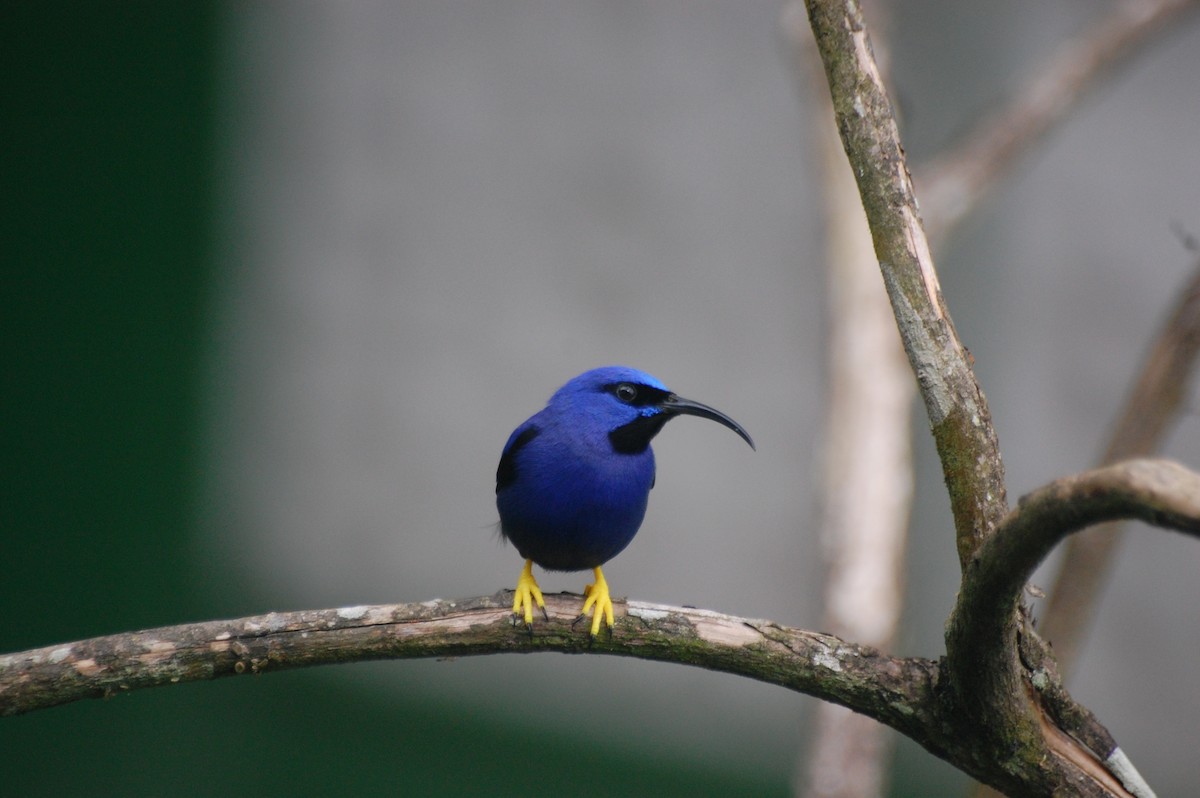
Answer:
<svg viewBox="0 0 1200 798"><path fill-rule="evenodd" d="M196 545L220 8L5 4L0 31L0 650L269 610ZM578 732L283 673L2 719L0 784L6 796L786 793Z"/></svg>

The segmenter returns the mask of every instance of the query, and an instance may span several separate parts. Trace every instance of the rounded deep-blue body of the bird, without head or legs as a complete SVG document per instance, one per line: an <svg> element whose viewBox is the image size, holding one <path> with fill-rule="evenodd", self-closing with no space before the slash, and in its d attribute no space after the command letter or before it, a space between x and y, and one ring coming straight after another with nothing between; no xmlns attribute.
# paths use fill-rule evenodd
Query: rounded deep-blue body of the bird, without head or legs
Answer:
<svg viewBox="0 0 1200 798"><path fill-rule="evenodd" d="M616 452L607 433L547 408L509 438L496 503L500 530L522 557L548 570L583 570L608 562L637 534L654 452Z"/></svg>

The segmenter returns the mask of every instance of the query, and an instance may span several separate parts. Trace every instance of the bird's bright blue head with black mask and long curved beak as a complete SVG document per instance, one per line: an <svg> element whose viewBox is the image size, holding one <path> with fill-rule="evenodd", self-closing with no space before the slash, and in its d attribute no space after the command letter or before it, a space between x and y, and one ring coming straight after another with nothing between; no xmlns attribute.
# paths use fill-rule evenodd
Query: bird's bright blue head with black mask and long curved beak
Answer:
<svg viewBox="0 0 1200 798"><path fill-rule="evenodd" d="M604 430L616 451L644 451L667 421L698 415L737 432L754 449L742 425L720 410L672 394L656 378L628 366L593 368L563 385L547 408L572 424Z"/></svg>

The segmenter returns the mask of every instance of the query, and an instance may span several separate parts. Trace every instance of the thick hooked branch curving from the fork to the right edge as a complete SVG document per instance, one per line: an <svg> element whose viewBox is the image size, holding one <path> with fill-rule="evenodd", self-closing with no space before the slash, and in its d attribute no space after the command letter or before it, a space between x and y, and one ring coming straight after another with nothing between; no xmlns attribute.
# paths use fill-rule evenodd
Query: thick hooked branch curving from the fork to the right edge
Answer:
<svg viewBox="0 0 1200 798"><path fill-rule="evenodd" d="M956 710L992 730L1009 755L1020 739L1031 757L1044 744L1076 767L1123 758L1103 726L1069 698L1054 659L1018 612L1026 581L1060 541L1115 518L1200 536L1200 475L1169 461L1134 460L1057 480L1024 497L968 564L947 624L942 683ZM1046 715L1069 737L1048 733ZM1082 743L1078 756L1072 740Z"/></svg>

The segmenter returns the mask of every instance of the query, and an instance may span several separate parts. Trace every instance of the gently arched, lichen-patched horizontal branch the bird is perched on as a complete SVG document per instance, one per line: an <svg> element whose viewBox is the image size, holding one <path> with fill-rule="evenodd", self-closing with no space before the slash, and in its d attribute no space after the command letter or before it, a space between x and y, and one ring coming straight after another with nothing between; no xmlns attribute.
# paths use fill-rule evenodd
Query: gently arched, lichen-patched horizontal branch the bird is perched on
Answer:
<svg viewBox="0 0 1200 798"><path fill-rule="evenodd" d="M511 623L511 593L342 607L94 637L0 656L0 715L181 682L382 659L596 653L738 673L841 703L916 733L929 722L935 665L767 620L616 601L612 638L572 626L582 599L546 595L534 634Z"/></svg>

